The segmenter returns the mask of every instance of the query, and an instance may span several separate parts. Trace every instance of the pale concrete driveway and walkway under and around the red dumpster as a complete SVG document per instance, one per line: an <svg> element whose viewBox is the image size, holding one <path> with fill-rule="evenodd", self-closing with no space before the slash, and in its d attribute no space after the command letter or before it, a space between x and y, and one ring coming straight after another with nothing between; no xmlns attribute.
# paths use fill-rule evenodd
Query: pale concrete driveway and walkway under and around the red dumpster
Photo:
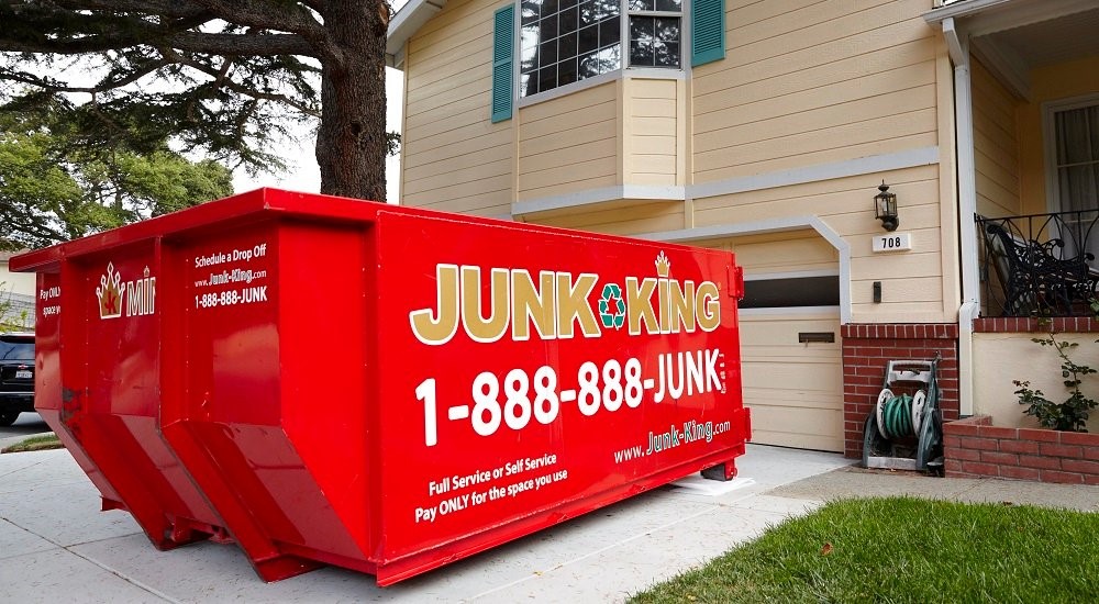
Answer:
<svg viewBox="0 0 1099 604"><path fill-rule="evenodd" d="M1099 508L1099 488L888 476L850 463L750 446L732 483L687 479L380 589L335 568L267 584L233 546L156 551L129 514L98 512L98 492L67 451L10 454L0 456L0 601L619 602L837 496Z"/></svg>

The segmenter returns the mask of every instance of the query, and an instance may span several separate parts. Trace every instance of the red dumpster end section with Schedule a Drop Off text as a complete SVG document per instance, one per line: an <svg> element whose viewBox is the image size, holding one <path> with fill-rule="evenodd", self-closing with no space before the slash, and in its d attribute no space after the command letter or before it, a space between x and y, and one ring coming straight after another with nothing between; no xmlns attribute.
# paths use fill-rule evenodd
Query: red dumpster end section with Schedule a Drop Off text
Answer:
<svg viewBox="0 0 1099 604"><path fill-rule="evenodd" d="M363 247L360 228L276 220L170 244L165 433L268 580L311 568L296 555L365 557Z"/></svg>

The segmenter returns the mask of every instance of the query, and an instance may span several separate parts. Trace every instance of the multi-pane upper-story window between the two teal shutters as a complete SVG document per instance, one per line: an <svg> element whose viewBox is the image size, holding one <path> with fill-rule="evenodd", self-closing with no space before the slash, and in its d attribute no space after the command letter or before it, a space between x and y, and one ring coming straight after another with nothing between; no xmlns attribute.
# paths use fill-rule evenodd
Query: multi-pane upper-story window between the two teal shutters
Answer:
<svg viewBox="0 0 1099 604"><path fill-rule="evenodd" d="M621 69L623 37L630 66L681 65L682 0L522 0L520 7L521 97Z"/></svg>

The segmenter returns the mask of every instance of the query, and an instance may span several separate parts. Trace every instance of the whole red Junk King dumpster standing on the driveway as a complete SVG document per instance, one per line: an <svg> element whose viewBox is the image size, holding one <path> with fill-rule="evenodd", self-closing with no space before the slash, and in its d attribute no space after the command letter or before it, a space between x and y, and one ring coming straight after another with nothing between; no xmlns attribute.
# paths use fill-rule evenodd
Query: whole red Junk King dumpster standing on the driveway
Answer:
<svg viewBox="0 0 1099 604"><path fill-rule="evenodd" d="M266 580L390 584L750 434L729 253L260 189L11 265L59 283L37 404L104 499Z"/></svg>

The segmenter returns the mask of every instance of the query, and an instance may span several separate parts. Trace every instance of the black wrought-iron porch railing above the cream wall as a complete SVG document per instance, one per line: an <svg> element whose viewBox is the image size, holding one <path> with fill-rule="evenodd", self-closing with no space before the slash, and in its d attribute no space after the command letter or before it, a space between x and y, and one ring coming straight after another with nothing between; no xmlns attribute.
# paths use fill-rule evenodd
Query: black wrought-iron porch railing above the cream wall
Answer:
<svg viewBox="0 0 1099 604"><path fill-rule="evenodd" d="M1099 297L1099 212L977 216L981 314L1089 316Z"/></svg>

